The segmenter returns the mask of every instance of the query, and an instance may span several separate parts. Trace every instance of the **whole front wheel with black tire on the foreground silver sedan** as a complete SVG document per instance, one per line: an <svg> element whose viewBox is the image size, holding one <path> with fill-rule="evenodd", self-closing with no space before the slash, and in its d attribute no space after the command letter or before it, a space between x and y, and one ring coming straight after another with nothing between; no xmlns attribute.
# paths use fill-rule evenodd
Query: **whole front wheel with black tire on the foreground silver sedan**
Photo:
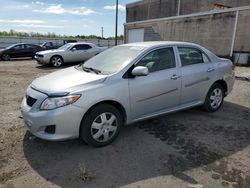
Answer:
<svg viewBox="0 0 250 188"><path fill-rule="evenodd" d="M80 137L91 146L106 146L115 140L122 125L122 115L117 108L100 104L83 118Z"/></svg>

